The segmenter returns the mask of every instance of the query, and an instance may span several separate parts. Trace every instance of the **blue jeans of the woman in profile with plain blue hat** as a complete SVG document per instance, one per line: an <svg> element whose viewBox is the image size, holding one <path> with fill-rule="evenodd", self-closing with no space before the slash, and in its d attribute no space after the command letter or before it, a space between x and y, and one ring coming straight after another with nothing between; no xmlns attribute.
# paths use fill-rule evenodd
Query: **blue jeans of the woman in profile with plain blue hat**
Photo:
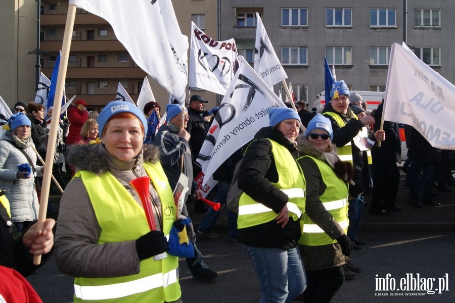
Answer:
<svg viewBox="0 0 455 303"><path fill-rule="evenodd" d="M291 249L244 245L253 259L261 285L259 303L292 302L306 287L306 275L300 252Z"/></svg>

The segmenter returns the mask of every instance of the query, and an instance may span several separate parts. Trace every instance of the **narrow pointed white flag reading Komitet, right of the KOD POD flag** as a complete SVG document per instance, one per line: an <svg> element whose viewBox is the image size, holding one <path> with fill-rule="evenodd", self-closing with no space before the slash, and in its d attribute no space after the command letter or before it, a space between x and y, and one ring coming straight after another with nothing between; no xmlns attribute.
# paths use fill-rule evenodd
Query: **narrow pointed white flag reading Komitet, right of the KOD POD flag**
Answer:
<svg viewBox="0 0 455 303"><path fill-rule="evenodd" d="M268 86L286 79L288 76L275 53L261 17L256 13L256 44L254 49L254 70Z"/></svg>

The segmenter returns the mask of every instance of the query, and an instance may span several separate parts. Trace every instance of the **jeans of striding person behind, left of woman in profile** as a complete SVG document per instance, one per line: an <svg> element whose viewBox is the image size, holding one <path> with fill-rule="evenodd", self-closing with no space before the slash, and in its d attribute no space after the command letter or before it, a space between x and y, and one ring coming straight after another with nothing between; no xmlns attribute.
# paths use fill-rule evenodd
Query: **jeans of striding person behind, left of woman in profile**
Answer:
<svg viewBox="0 0 455 303"><path fill-rule="evenodd" d="M231 185L230 181L219 181L218 182L218 192L216 193L215 198L213 201L215 203L221 204L221 207L224 208L226 205L226 198L228 197L229 186ZM229 235L231 238L237 238L237 214L228 211L228 227L229 227ZM212 207L210 207L205 214L204 218L201 220L201 224L199 225L198 230L203 232L209 232L215 226L216 221L220 215L221 209L215 211Z"/></svg>

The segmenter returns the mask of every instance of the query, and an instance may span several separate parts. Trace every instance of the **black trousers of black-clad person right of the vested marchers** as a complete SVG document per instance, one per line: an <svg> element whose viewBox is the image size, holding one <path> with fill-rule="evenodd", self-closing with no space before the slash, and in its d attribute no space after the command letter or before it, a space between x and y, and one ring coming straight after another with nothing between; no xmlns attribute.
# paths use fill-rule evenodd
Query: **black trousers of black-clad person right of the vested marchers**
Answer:
<svg viewBox="0 0 455 303"><path fill-rule="evenodd" d="M400 183L400 172L395 162L375 161L373 196L370 212L380 212L395 206Z"/></svg>

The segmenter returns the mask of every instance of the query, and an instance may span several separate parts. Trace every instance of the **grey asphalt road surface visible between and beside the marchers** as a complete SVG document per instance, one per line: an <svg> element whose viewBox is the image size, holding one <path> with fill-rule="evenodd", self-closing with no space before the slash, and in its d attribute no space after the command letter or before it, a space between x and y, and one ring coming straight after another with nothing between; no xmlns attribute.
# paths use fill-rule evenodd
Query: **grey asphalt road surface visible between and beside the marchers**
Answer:
<svg viewBox="0 0 455 303"><path fill-rule="evenodd" d="M362 272L346 281L332 301L455 302L455 233L376 232L360 233L358 237L368 242L352 255L352 262L361 266ZM242 244L230 242L228 234L222 233L218 239L199 237L197 243L206 263L219 276L210 283L193 280L185 260L181 260L185 303L258 301L259 284ZM72 280L61 274L52 261L28 278L44 302L58 303L72 301ZM425 290L412 290L416 288L412 281ZM379 290L386 285L395 290ZM403 286L409 290L396 290ZM435 293L430 294L433 290Z"/></svg>

